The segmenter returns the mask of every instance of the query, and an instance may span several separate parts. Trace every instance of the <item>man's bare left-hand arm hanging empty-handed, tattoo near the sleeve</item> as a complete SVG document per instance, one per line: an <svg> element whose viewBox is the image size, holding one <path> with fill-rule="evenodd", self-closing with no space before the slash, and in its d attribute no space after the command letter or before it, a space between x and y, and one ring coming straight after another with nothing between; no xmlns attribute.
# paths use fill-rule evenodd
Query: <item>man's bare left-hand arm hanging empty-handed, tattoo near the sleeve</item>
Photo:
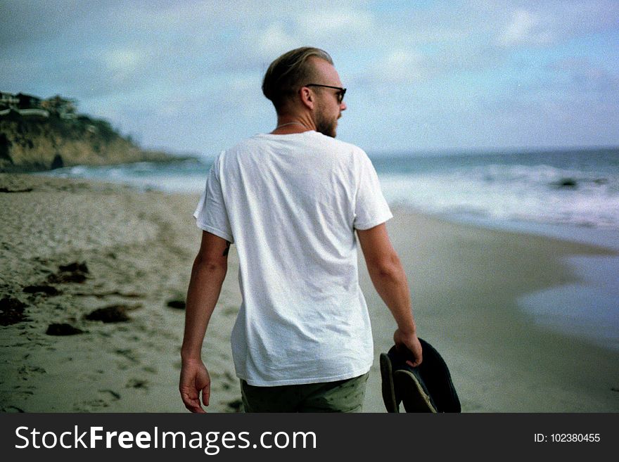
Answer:
<svg viewBox="0 0 619 462"><path fill-rule="evenodd" d="M210 376L202 361L202 344L226 278L229 248L227 240L203 231L200 250L191 269L179 391L185 407L192 412L205 412L200 405L200 392L205 406L210 399Z"/></svg>

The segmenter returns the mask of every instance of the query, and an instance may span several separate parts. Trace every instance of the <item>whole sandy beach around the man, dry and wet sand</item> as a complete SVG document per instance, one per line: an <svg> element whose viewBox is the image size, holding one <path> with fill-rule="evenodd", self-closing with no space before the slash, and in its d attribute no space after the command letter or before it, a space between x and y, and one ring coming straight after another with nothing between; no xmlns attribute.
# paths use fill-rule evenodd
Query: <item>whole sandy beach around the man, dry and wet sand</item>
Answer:
<svg viewBox="0 0 619 462"><path fill-rule="evenodd" d="M0 174L0 411L183 412L182 301L197 195ZM611 250L394 210L419 336L447 362L464 412L617 412L619 351L538 325L517 300L577 282L566 259ZM234 246L205 340L208 411L235 412ZM372 289L375 361L364 411L385 412L378 354L395 323ZM180 305L180 306L179 306Z"/></svg>

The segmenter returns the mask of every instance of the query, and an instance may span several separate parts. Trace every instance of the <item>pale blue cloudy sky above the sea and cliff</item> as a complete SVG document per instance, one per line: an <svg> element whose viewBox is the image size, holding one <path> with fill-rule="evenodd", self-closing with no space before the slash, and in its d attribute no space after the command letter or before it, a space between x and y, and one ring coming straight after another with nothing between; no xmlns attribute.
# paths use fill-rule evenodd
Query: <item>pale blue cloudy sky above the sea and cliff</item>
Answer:
<svg viewBox="0 0 619 462"><path fill-rule="evenodd" d="M369 153L619 146L619 1L0 0L0 91L60 94L144 148L208 157L276 116L298 46Z"/></svg>

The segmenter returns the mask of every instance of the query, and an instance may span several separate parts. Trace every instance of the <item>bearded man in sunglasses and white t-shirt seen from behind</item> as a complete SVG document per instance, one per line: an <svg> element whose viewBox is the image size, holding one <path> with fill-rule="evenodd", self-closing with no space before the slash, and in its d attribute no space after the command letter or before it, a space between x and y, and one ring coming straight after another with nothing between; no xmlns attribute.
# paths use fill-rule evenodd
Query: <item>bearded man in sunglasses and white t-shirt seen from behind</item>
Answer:
<svg viewBox="0 0 619 462"><path fill-rule="evenodd" d="M276 128L219 155L194 214L203 234L187 293L181 397L190 411L204 412L200 393L208 406L201 348L235 243L243 303L231 342L245 411L361 411L374 350L357 238L397 322L396 345L421 363L407 278L385 229L392 214L366 153L335 140L346 90L325 51L283 54L262 91Z"/></svg>

